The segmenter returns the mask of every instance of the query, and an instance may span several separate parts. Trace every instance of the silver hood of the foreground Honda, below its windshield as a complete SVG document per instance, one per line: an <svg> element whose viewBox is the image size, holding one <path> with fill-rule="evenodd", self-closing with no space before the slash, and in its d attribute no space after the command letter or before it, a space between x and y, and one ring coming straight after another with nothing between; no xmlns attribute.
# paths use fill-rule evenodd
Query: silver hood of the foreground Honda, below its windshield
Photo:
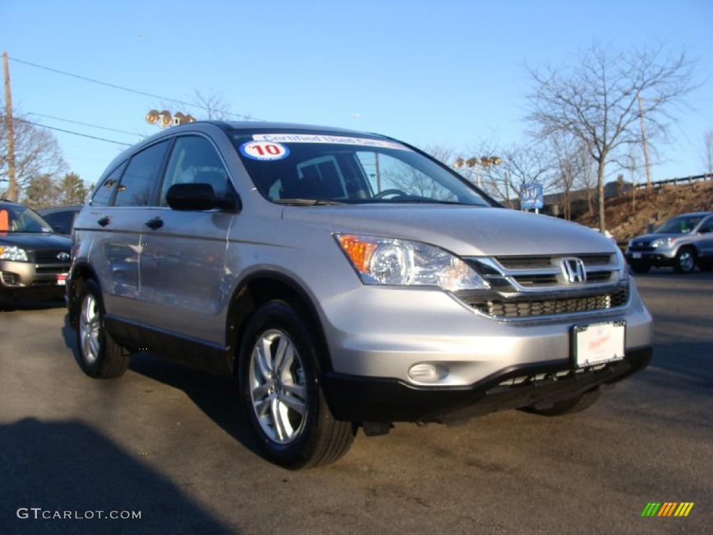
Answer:
<svg viewBox="0 0 713 535"><path fill-rule="evenodd" d="M464 205L288 206L285 220L419 240L461 256L612 253L612 240L549 215Z"/></svg>

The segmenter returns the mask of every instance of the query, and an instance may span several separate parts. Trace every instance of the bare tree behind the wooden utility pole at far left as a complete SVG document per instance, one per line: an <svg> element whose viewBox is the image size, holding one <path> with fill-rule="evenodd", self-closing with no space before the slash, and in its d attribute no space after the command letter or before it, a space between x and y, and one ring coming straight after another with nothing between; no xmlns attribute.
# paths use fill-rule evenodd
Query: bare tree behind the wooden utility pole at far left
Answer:
<svg viewBox="0 0 713 535"><path fill-rule="evenodd" d="M0 116L0 197L6 194L8 186L7 131L4 117ZM56 138L46 128L39 128L14 115L15 134L15 178L17 190L27 188L31 180L41 175L51 179L66 170Z"/></svg>

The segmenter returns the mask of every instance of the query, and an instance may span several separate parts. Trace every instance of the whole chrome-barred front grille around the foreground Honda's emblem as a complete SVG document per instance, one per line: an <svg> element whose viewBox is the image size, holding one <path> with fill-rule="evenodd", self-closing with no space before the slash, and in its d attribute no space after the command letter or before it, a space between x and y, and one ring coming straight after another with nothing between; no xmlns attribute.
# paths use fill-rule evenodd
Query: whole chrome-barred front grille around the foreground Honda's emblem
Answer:
<svg viewBox="0 0 713 535"><path fill-rule="evenodd" d="M577 258L585 282L568 282L563 258ZM629 284L622 280L616 253L468 258L490 286L485 292L456 292L456 297L483 315L498 320L586 314L623 307Z"/></svg>

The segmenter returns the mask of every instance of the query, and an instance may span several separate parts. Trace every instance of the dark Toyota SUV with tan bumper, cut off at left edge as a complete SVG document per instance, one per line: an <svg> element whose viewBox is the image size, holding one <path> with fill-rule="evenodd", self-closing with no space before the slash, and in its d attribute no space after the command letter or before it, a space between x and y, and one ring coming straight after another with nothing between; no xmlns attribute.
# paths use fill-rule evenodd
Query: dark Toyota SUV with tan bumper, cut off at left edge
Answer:
<svg viewBox="0 0 713 535"><path fill-rule="evenodd" d="M0 300L63 297L71 245L34 210L0 200Z"/></svg>

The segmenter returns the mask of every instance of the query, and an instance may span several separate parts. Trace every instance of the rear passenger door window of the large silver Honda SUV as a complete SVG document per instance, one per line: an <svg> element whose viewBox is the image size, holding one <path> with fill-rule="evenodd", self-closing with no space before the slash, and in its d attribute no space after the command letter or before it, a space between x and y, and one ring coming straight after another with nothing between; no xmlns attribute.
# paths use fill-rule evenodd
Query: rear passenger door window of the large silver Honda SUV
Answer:
<svg viewBox="0 0 713 535"><path fill-rule="evenodd" d="M131 158L116 190L115 206L148 206L153 202L154 188L167 149L168 140L156 143Z"/></svg>

